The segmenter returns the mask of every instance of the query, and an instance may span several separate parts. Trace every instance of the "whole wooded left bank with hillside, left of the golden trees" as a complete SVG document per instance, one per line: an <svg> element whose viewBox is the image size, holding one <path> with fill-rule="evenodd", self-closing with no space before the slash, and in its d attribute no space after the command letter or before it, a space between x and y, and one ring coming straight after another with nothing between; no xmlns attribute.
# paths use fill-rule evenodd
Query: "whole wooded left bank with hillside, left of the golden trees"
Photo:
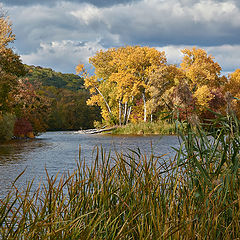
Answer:
<svg viewBox="0 0 240 240"><path fill-rule="evenodd" d="M0 16L0 141L34 137L46 130L91 128L99 108L87 106L83 79L50 68L24 65L9 47L15 39Z"/></svg>

